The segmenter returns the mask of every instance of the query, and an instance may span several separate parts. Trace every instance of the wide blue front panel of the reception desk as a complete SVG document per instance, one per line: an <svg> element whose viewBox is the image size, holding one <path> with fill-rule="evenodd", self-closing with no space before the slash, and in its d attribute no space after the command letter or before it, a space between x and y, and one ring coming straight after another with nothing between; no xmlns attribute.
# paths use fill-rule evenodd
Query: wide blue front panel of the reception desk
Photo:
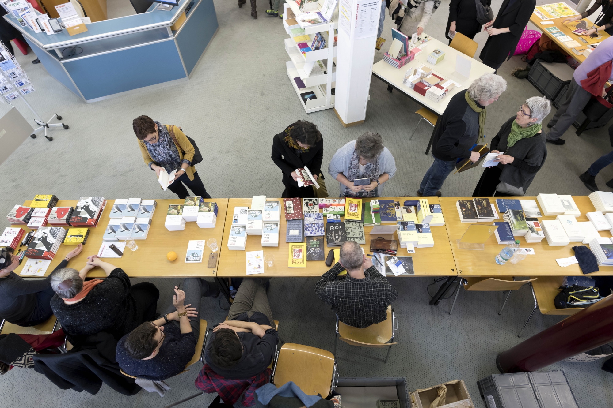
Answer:
<svg viewBox="0 0 613 408"><path fill-rule="evenodd" d="M173 39L63 64L85 100L186 78Z"/></svg>

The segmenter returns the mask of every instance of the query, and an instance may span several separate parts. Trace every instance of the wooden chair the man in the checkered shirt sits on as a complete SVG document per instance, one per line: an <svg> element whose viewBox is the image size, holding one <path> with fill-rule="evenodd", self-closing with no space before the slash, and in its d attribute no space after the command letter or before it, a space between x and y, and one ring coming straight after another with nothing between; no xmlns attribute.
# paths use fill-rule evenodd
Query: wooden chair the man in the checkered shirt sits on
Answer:
<svg viewBox="0 0 613 408"><path fill-rule="evenodd" d="M337 353L337 341L340 339L351 346L359 347L389 347L387 349L387 355L385 362L387 363L387 357L392 350L394 344L394 333L398 328L398 320L394 315L394 309L392 306L387 307L387 319L381 323L375 323L366 328L360 329L357 327L351 327L338 320L337 315L337 332L334 335L334 355Z"/></svg>

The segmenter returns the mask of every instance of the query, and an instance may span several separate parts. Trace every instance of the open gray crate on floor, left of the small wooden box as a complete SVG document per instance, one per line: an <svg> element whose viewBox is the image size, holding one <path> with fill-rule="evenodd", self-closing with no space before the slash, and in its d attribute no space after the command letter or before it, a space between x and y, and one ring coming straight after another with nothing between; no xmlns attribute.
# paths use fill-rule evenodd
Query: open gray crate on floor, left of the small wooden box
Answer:
<svg viewBox="0 0 613 408"><path fill-rule="evenodd" d="M362 388L352 393L351 387ZM380 392L378 388L381 390ZM341 395L343 406L345 404L351 405L350 402L356 402L357 404L366 404L368 407L376 407L378 399L398 399L400 408L411 408L405 377L340 378L335 390Z"/></svg>

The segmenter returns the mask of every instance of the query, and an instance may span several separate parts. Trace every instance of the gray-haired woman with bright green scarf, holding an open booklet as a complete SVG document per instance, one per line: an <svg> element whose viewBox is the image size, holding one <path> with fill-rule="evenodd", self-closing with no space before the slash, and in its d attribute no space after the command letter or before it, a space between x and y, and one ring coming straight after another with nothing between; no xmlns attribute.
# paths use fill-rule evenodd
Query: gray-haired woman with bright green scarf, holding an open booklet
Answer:
<svg viewBox="0 0 613 408"><path fill-rule="evenodd" d="M523 196L547 158L541 122L549 115L551 101L531 97L516 116L506 121L492 139L490 153L501 153L498 165L487 167L474 189L474 197Z"/></svg>

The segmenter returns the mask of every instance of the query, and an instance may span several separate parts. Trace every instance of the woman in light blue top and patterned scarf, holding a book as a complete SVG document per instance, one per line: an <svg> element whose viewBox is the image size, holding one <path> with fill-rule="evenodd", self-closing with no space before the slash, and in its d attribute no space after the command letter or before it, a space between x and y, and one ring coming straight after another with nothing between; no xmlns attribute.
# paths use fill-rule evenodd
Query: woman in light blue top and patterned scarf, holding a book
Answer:
<svg viewBox="0 0 613 408"><path fill-rule="evenodd" d="M366 132L337 150L328 173L341 183L340 197L380 197L383 185L396 173L396 163L383 137Z"/></svg>

